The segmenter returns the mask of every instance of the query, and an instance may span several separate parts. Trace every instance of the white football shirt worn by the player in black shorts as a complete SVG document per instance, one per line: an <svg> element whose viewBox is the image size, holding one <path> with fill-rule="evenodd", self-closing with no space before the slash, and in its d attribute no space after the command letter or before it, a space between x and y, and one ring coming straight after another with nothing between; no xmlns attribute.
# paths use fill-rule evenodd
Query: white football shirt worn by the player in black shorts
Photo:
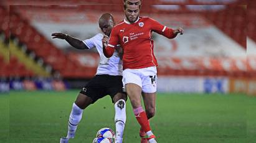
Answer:
<svg viewBox="0 0 256 143"><path fill-rule="evenodd" d="M90 39L83 40L83 43L89 49L96 47L98 54L100 54L100 63L98 63L96 75L122 75L123 63L119 53L115 50L112 57L105 57L103 53L102 38L103 34L97 34Z"/></svg>

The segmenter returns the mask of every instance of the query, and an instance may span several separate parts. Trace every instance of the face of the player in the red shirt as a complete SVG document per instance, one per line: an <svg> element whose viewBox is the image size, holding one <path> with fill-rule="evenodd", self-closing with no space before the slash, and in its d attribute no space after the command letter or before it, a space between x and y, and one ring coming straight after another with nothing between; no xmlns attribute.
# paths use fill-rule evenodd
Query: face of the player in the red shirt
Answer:
<svg viewBox="0 0 256 143"><path fill-rule="evenodd" d="M140 14L140 6L139 5L129 5L126 4L126 9L125 9L125 16L126 20L133 23L135 22Z"/></svg>

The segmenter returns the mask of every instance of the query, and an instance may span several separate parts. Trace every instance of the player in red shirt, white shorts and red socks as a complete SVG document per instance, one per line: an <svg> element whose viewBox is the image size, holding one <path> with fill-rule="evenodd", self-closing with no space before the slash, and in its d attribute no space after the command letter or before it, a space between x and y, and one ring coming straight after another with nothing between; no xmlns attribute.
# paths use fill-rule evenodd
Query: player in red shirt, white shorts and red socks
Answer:
<svg viewBox="0 0 256 143"><path fill-rule="evenodd" d="M148 119L155 113L156 100L156 66L152 32L173 39L183 34L183 29L171 29L149 17L140 17L140 0L125 0L125 19L111 31L110 39L102 39L103 53L106 57L113 55L113 48L121 44L123 48L123 84L131 101L135 117L141 125L140 136L148 136L148 141L156 142ZM145 110L141 106L141 93ZM141 138L141 142L145 138Z"/></svg>

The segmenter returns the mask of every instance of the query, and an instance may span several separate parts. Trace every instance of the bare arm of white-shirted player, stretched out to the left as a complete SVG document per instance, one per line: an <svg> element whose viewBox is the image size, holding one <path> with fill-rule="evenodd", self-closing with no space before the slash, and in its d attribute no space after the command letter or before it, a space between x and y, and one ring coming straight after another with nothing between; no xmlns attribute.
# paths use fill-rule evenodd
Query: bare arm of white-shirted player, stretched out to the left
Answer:
<svg viewBox="0 0 256 143"><path fill-rule="evenodd" d="M52 39L64 39L66 40L72 47L77 48L77 49L89 49L87 45L85 45L82 40L76 39L74 37L71 37L70 35L67 34L62 34L62 33L53 33L52 34Z"/></svg>

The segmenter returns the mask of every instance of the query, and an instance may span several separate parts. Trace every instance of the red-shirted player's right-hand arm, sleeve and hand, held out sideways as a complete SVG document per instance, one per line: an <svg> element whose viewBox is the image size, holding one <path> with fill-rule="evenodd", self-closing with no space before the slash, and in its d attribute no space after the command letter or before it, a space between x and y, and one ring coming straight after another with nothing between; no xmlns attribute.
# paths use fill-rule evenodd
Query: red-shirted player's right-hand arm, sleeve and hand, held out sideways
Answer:
<svg viewBox="0 0 256 143"><path fill-rule="evenodd" d="M178 29L171 29L167 27L166 25L162 25L157 21L154 21L153 19L151 20L151 29L154 32L157 32L158 34L164 35L164 37L167 37L169 39L175 38L178 34L183 35L184 30L179 27Z"/></svg>

